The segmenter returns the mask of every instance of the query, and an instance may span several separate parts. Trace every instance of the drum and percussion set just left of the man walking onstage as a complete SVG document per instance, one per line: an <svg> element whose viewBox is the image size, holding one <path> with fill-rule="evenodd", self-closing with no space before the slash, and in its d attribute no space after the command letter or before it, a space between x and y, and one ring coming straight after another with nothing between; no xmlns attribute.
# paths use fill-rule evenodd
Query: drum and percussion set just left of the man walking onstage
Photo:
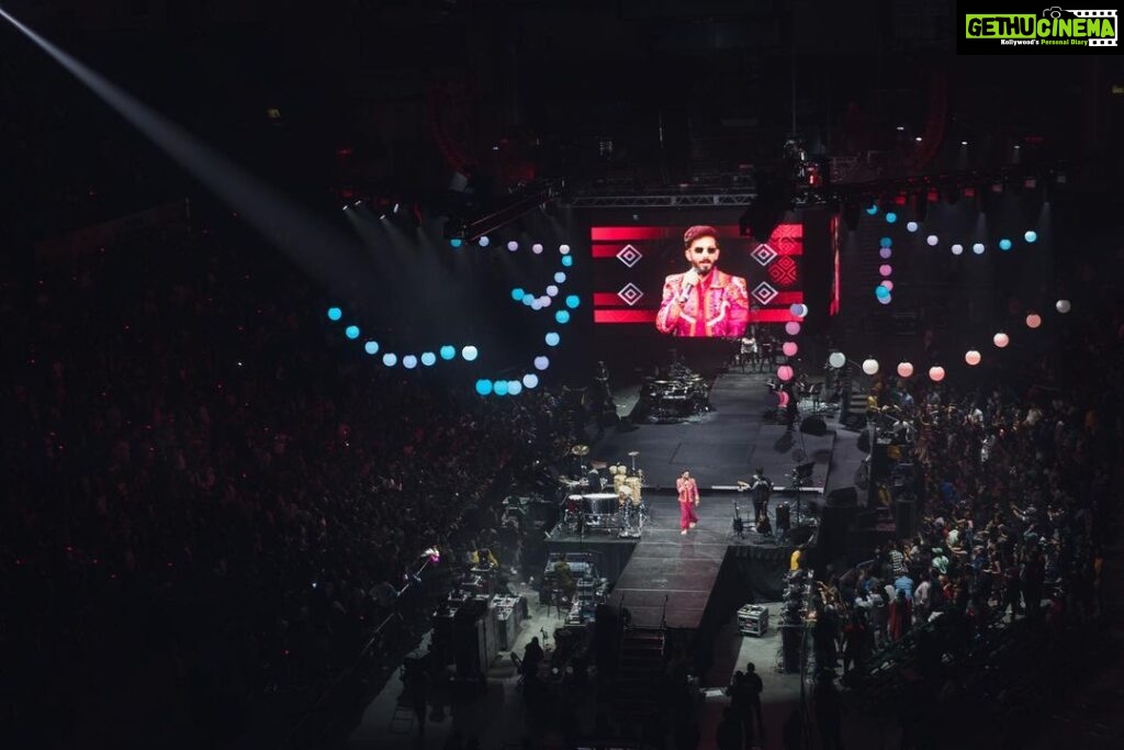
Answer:
<svg viewBox="0 0 1124 750"><path fill-rule="evenodd" d="M589 454L588 445L574 445L572 455ZM644 505L644 470L636 468L640 451L629 451L631 467L615 463L608 467L613 491L597 491L588 479L559 479L564 488L562 524L571 534L616 533L622 537L638 537L647 521ZM606 488L608 489L608 488Z"/></svg>

